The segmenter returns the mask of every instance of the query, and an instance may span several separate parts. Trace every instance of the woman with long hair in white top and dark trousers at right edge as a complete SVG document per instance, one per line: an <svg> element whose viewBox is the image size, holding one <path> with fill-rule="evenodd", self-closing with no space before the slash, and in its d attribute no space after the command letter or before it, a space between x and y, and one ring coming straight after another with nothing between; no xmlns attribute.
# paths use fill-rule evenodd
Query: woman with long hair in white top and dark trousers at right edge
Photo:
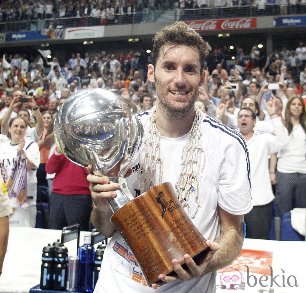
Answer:
<svg viewBox="0 0 306 293"><path fill-rule="evenodd" d="M292 208L305 208L306 159L305 104L299 95L293 95L285 110L285 121L289 132L289 144L279 151L276 168L275 208L276 216ZM295 194L295 197L293 195ZM294 204L293 204L293 198Z"/></svg>

